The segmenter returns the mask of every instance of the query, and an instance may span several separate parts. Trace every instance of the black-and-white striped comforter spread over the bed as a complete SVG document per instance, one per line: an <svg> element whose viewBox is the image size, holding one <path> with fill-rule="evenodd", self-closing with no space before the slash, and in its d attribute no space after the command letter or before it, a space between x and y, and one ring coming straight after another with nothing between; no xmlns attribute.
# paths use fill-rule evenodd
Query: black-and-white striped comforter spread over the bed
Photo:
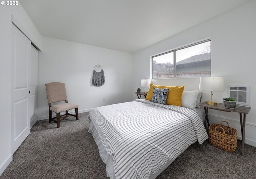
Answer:
<svg viewBox="0 0 256 179"><path fill-rule="evenodd" d="M117 179L148 179L192 143L208 135L196 111L146 99L90 111Z"/></svg>

